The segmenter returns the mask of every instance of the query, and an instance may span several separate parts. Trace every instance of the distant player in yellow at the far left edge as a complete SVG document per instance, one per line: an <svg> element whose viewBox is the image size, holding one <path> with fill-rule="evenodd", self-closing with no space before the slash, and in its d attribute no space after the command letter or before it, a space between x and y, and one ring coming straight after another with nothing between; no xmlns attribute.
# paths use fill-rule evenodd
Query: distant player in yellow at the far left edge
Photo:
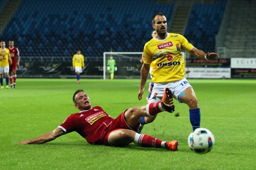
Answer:
<svg viewBox="0 0 256 170"><path fill-rule="evenodd" d="M9 89L9 61L10 65L12 64L11 56L10 56L10 51L8 48L5 48L5 42L1 41L0 43L0 83L1 83L1 89L4 88L3 84L3 77L5 73L5 83L6 86L5 88Z"/></svg>

